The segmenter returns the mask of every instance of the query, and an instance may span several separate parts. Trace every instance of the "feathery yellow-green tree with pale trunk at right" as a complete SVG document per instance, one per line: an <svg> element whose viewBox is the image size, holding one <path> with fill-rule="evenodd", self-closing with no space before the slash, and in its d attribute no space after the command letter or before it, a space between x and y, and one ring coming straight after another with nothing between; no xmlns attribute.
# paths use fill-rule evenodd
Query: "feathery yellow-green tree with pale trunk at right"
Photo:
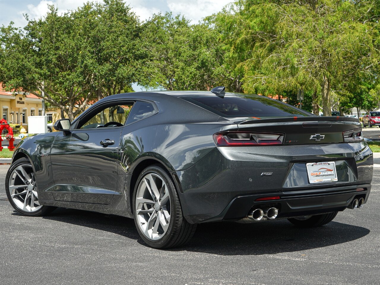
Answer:
<svg viewBox="0 0 380 285"><path fill-rule="evenodd" d="M331 115L331 89L378 73L374 0L239 0L217 22L244 70L246 92L310 90Z"/></svg>

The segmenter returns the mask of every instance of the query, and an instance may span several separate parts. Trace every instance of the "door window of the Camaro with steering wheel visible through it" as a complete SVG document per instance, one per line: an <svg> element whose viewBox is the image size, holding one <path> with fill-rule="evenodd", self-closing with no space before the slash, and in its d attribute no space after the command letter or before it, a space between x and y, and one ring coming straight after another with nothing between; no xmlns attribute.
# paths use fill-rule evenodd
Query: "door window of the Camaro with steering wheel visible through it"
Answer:
<svg viewBox="0 0 380 285"><path fill-rule="evenodd" d="M127 120L129 111L132 108L133 103L128 102L127 104L119 104L108 106L107 108L101 110L89 120L81 122L78 128L102 128L102 127L119 127L124 125Z"/></svg>

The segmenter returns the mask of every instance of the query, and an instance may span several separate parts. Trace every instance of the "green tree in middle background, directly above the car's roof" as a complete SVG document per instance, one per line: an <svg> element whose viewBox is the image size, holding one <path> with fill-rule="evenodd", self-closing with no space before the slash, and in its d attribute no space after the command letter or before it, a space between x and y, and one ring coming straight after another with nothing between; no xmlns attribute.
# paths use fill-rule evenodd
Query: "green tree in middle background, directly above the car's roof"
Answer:
<svg viewBox="0 0 380 285"><path fill-rule="evenodd" d="M171 13L143 25L150 60L142 84L166 90L207 90L220 84L223 44L207 24L190 25Z"/></svg>

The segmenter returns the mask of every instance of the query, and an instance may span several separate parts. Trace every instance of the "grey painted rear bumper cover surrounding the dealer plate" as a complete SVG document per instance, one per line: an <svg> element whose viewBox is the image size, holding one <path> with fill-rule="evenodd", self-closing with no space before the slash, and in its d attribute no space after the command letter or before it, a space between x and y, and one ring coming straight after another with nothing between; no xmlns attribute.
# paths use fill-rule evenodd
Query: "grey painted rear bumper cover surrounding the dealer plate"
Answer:
<svg viewBox="0 0 380 285"><path fill-rule="evenodd" d="M306 163L318 161L336 161L338 182L309 184ZM279 206L288 207L287 212L293 214L301 212L299 215L306 215L303 213L307 209L310 213L342 211L356 195L356 188L366 188L367 198L372 182L372 165L372 152L365 142L217 147L192 167L172 174L179 188L186 220L200 223L241 218L256 203L255 199L263 196L282 196ZM272 175L261 176L262 173ZM348 195L342 191L348 191ZM335 194L343 196L329 206L328 199ZM308 195L314 198L307 199ZM288 204L285 204L285 199ZM240 205L243 200L245 202ZM303 202L306 202L304 206ZM240 214L224 217L226 211L234 213L232 204L235 203L236 208L242 208L238 209Z"/></svg>

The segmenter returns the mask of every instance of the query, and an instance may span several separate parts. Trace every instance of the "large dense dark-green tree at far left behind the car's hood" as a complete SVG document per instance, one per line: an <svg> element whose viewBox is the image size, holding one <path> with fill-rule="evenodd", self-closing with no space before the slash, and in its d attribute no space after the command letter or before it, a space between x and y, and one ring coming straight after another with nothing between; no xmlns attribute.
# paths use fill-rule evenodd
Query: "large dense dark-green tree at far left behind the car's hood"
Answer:
<svg viewBox="0 0 380 285"><path fill-rule="evenodd" d="M27 18L28 20L28 18ZM0 81L43 97L71 120L93 100L128 89L139 70L139 23L121 0L87 3L2 27ZM15 68L16 67L16 68Z"/></svg>

